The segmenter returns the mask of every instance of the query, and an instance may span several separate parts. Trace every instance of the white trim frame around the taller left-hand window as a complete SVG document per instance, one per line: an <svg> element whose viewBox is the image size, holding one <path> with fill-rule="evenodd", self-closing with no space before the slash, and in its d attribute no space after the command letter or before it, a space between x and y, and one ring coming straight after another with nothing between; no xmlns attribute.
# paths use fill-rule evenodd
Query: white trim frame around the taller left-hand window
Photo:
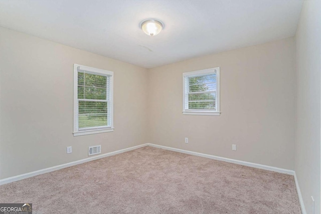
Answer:
<svg viewBox="0 0 321 214"><path fill-rule="evenodd" d="M78 99L78 69L86 71L86 73L89 74L96 74L96 75L109 75L110 76L110 127L102 126L101 128L93 127L93 128L85 128L82 130L78 129L78 105L77 105L77 99ZM74 136L81 136L81 135L87 135L87 134L97 134L97 133L103 133L103 132L111 132L114 131L114 119L113 119L113 105L114 105L114 96L113 96L113 84L114 84L114 72L112 71L106 71L102 69L97 68L91 68L88 66L83 65L77 65L74 64Z"/></svg>

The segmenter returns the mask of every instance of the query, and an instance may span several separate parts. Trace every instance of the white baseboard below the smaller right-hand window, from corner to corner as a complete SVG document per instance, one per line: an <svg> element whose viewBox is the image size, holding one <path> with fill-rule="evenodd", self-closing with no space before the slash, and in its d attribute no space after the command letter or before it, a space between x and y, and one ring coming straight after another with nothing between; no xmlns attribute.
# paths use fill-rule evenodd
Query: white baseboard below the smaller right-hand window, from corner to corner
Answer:
<svg viewBox="0 0 321 214"><path fill-rule="evenodd" d="M262 164L258 164L258 163L251 163L251 162L246 162L246 161L242 161L242 160L235 160L235 159L230 159L230 158L226 158L226 157L220 157L220 156L215 156L215 155L210 155L210 154L203 154L203 153L199 153L199 152L177 149L177 148L172 148L172 147L168 147L168 146L161 146L161 145L156 145L156 144L152 144L152 143L146 143L146 144L148 146L163 148L163 149L181 152L181 153L185 153L185 154L192 154L192 155L196 155L196 156L200 156L200 157L207 157L207 158L211 158L211 159L215 159L215 160L222 160L225 162L236 163L236 164L240 164L240 165L244 165L244 166L250 166L250 167L254 167L254 168L265 169L265 170L269 170L269 171L275 171L275 172L280 172L280 173L284 173L284 174L294 175L294 171L289 170L289 169L282 169L282 168L277 168L274 166L267 166L267 165L262 165Z"/></svg>

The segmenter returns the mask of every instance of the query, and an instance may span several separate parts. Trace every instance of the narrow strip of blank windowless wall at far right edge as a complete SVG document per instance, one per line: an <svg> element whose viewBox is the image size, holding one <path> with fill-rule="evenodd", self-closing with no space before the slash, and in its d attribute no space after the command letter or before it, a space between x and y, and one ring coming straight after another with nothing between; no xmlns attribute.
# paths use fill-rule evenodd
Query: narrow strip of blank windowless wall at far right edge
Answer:
<svg viewBox="0 0 321 214"><path fill-rule="evenodd" d="M296 31L295 172L307 213L320 213L321 2L305 1Z"/></svg>

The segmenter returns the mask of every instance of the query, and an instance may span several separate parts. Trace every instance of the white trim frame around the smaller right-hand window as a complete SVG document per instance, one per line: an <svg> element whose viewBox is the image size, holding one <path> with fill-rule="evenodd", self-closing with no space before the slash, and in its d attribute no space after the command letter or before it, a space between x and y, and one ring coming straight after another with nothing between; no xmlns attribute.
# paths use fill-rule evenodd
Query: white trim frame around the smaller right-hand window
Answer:
<svg viewBox="0 0 321 214"><path fill-rule="evenodd" d="M215 71L217 72L216 73L216 96L217 96L217 98L216 98L217 99L216 100L216 111L185 109L185 105L186 105L185 77L213 74L213 73L215 73ZM183 73L183 114L220 116L220 114L221 114L221 112L220 112L220 67Z"/></svg>

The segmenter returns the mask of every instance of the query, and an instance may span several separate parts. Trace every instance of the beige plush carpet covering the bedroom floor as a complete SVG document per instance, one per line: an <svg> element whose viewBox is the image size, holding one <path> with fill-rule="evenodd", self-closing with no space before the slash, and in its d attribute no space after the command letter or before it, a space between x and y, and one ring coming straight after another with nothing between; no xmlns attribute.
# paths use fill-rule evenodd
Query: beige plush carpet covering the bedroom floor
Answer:
<svg viewBox="0 0 321 214"><path fill-rule="evenodd" d="M0 186L33 213L300 213L291 175L143 147Z"/></svg>

